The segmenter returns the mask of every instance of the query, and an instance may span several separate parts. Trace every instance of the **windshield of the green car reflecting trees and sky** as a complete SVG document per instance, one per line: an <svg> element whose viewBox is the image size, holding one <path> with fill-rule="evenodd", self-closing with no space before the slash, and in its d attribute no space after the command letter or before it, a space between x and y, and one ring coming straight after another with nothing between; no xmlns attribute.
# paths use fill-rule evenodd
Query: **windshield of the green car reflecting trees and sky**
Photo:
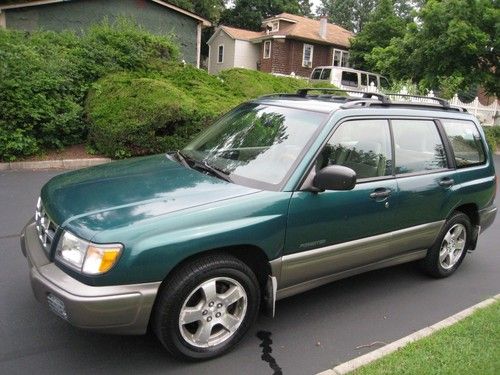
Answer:
<svg viewBox="0 0 500 375"><path fill-rule="evenodd" d="M247 103L219 119L183 154L222 171L236 183L274 190L327 116Z"/></svg>

